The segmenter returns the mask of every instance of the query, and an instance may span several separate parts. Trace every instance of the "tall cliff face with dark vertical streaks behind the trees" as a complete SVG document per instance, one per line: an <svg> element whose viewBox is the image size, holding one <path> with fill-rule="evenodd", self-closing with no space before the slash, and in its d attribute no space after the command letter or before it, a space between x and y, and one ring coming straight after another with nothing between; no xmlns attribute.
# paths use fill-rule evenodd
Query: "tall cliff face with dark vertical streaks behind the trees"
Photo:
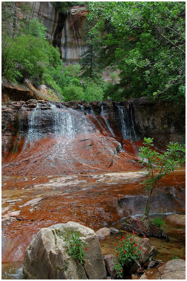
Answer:
<svg viewBox="0 0 187 281"><path fill-rule="evenodd" d="M81 37L81 27L87 10L84 6L74 6L67 14L59 13L51 2L28 2L32 18L43 21L47 28L47 40L59 47L61 58L66 65L75 64L80 54L86 50Z"/></svg>

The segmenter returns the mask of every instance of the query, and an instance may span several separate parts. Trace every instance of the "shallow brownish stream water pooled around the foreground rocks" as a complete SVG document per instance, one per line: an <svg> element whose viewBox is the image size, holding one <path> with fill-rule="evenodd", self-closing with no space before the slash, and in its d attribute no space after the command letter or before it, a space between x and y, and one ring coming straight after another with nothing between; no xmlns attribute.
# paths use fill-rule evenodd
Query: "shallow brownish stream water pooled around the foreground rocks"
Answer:
<svg viewBox="0 0 187 281"><path fill-rule="evenodd" d="M184 212L180 214L185 214ZM155 215L155 217L165 218L166 215ZM107 227L114 227L121 231L118 235L126 236L127 234L132 234L132 232L124 231L121 225L124 223L124 219L119 220L113 224L107 225ZM155 237L150 237L151 244L157 247L158 253L154 256L155 259L161 261L168 261L171 258L179 257L185 260L185 235L179 235L179 232L184 230L184 227L176 226L172 223L165 223L163 225L164 232L169 236L170 240L166 242L162 239L157 239ZM114 242L116 239L116 234L101 240L101 250L103 255L115 255L115 251L111 250L110 241ZM25 279L22 273L22 262L8 262L2 263L2 279Z"/></svg>

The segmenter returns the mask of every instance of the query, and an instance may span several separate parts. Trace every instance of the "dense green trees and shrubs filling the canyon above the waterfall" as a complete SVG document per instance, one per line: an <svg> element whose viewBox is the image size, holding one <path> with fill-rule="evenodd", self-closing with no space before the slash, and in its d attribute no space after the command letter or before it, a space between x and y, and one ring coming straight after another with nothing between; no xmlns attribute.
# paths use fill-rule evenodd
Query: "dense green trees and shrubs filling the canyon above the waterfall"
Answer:
<svg viewBox="0 0 187 281"><path fill-rule="evenodd" d="M22 2L21 2L22 3ZM59 12L84 2L52 2ZM47 84L65 100L149 96L185 102L185 3L87 2L80 65L65 67L45 27L20 2L2 5L2 76ZM19 7L18 7L19 6ZM67 13L68 14L68 13ZM107 83L106 67L118 69ZM114 77L115 75L115 77ZM80 80L82 79L82 81Z"/></svg>

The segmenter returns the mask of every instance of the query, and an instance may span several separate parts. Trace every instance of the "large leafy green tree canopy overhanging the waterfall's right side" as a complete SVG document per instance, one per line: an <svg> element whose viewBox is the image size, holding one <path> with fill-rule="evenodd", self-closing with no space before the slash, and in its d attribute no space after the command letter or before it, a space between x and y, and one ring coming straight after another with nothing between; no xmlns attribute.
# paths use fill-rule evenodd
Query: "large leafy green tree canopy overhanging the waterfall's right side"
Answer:
<svg viewBox="0 0 187 281"><path fill-rule="evenodd" d="M102 41L103 66L120 70L124 98L184 104L185 2L89 2L96 17L89 35Z"/></svg>

